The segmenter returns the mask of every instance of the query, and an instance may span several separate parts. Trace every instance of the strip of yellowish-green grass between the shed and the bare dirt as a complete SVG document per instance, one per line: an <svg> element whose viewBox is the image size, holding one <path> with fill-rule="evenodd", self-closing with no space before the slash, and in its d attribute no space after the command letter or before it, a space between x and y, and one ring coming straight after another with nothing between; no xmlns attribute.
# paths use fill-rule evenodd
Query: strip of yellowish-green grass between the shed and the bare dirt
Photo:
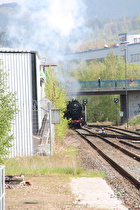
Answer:
<svg viewBox="0 0 140 210"><path fill-rule="evenodd" d="M105 174L86 171L81 168L76 159L77 148L73 146L61 148L53 156L32 156L10 158L5 160L6 175L39 176L63 174L74 177L105 177Z"/></svg>

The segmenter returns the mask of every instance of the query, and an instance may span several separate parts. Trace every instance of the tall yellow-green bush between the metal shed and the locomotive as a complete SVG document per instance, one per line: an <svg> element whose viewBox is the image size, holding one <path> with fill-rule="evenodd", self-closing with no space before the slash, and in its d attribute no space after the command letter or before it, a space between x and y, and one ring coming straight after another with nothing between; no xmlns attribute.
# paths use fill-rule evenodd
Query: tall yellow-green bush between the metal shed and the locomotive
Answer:
<svg viewBox="0 0 140 210"><path fill-rule="evenodd" d="M55 130L56 138L62 139L67 128L67 120L63 118L63 112L66 110L66 92L59 84L56 75L54 69L47 70L45 92L55 109L60 109L60 124L55 125Z"/></svg>

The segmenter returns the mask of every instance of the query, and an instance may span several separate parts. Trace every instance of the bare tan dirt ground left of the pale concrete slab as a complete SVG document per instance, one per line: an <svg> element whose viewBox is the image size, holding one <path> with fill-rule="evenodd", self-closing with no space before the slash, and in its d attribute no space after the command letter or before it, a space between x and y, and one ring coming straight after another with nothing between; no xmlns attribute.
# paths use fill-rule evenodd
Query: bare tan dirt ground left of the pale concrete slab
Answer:
<svg viewBox="0 0 140 210"><path fill-rule="evenodd" d="M27 178L27 177L26 177ZM74 204L68 179L63 176L29 177L29 186L6 189L6 210L87 209Z"/></svg>

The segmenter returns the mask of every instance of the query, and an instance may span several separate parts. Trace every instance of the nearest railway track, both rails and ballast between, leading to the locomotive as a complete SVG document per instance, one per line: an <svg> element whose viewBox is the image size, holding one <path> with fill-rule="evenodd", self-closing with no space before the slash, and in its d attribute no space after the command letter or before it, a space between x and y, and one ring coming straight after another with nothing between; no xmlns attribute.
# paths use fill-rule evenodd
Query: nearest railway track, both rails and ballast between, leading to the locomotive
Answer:
<svg viewBox="0 0 140 210"><path fill-rule="evenodd" d="M119 146L100 135L92 132L89 129L75 130L86 142L95 149L116 171L123 177L129 180L133 185L140 189L139 171L140 156L136 153L130 152L127 149ZM116 161L118 157L119 162ZM123 163L123 164L122 164ZM125 167L124 167L125 163Z"/></svg>

